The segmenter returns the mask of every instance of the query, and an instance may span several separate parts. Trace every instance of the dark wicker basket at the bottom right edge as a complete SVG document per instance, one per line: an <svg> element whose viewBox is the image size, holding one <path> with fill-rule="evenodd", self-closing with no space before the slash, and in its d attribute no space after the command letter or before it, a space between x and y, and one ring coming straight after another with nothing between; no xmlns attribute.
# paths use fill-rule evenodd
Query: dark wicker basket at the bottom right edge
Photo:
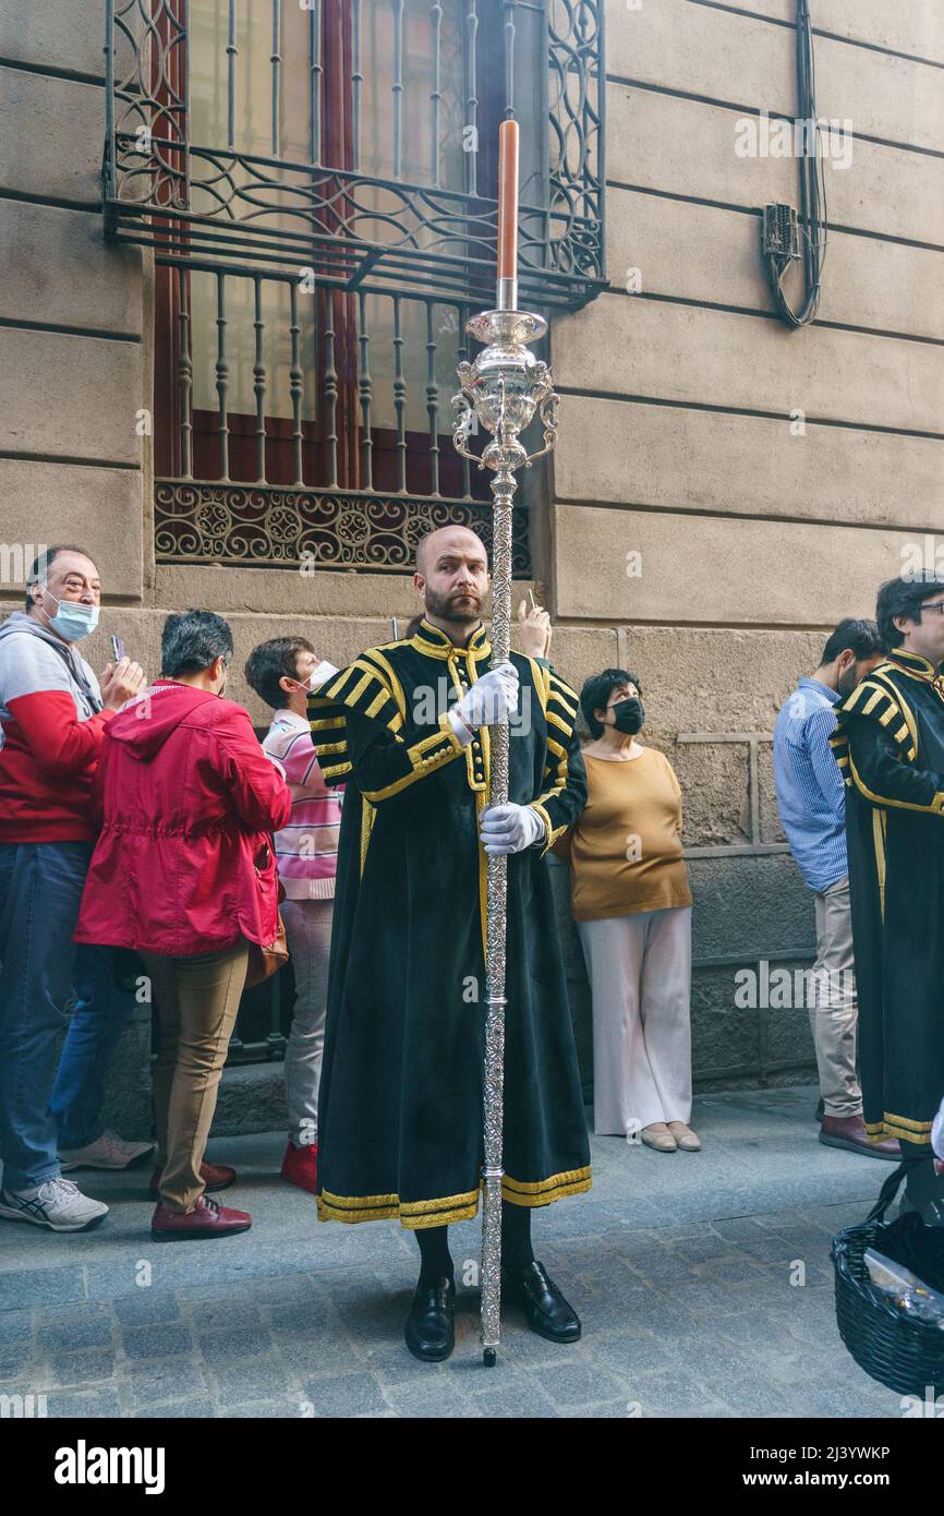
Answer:
<svg viewBox="0 0 944 1516"><path fill-rule="evenodd" d="M899 1166L882 1186L868 1219L833 1237L830 1257L836 1270L836 1322L842 1342L879 1384L900 1395L923 1396L933 1386L944 1393L944 1331L915 1320L871 1283L865 1249L882 1252L885 1211L905 1178Z"/></svg>

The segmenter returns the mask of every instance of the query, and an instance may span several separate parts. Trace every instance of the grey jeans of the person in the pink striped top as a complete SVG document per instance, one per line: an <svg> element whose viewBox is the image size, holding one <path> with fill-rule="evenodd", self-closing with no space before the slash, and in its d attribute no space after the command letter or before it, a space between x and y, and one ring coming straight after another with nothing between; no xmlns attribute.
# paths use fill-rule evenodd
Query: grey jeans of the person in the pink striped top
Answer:
<svg viewBox="0 0 944 1516"><path fill-rule="evenodd" d="M285 937L295 973L295 1008L285 1049L288 1137L295 1148L318 1140L318 1085L324 1055L327 960L333 901L282 901Z"/></svg>

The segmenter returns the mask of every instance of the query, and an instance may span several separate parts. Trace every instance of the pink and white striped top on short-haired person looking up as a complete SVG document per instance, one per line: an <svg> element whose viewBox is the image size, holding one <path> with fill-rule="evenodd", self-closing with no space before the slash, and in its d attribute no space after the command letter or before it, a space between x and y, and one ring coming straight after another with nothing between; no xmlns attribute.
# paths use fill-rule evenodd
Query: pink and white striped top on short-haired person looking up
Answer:
<svg viewBox="0 0 944 1516"><path fill-rule="evenodd" d="M277 758L292 796L291 816L276 832L279 878L289 901L330 901L338 870L341 790L324 784L311 728L294 711L276 711L262 749Z"/></svg>

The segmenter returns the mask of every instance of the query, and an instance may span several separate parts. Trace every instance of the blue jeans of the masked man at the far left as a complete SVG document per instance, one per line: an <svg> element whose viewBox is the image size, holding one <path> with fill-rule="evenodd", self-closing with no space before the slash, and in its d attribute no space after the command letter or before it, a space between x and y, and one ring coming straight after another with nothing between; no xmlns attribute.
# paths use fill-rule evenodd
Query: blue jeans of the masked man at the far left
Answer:
<svg viewBox="0 0 944 1516"><path fill-rule="evenodd" d="M91 854L91 843L0 844L0 1157L8 1190L56 1178L59 1146L85 1148L102 1135L105 1073L133 1010L130 994L114 991L111 949L73 943Z"/></svg>

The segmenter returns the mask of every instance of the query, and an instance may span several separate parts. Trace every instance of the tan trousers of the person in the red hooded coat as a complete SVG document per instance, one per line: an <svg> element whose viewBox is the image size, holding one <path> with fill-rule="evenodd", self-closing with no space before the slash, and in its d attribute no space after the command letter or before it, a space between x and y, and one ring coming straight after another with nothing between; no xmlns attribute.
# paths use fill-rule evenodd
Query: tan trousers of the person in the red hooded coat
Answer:
<svg viewBox="0 0 944 1516"><path fill-rule="evenodd" d="M200 1164L245 984L249 943L239 938L221 952L183 958L141 958L161 1025L153 1073L161 1199L171 1211L192 1211L205 1190Z"/></svg>

